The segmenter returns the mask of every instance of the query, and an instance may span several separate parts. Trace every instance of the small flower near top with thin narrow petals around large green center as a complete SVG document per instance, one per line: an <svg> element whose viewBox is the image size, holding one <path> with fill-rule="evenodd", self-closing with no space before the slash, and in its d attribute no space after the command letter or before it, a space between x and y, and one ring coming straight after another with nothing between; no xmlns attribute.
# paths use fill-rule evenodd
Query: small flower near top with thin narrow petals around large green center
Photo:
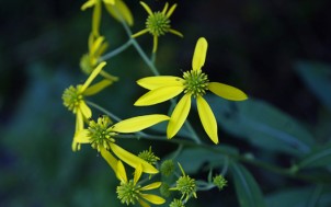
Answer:
<svg viewBox="0 0 331 207"><path fill-rule="evenodd" d="M173 4L168 10L169 3L167 2L162 12L160 12L160 11L152 12L150 10L150 8L142 1L140 1L140 4L147 11L148 18L146 20L146 28L134 34L133 35L134 38L149 32L153 36L152 53L156 53L158 49L158 37L159 36L164 35L166 33L172 33L180 37L183 37L182 33L171 28L171 25L170 25L170 16L173 13L174 9L176 8L176 4Z"/></svg>

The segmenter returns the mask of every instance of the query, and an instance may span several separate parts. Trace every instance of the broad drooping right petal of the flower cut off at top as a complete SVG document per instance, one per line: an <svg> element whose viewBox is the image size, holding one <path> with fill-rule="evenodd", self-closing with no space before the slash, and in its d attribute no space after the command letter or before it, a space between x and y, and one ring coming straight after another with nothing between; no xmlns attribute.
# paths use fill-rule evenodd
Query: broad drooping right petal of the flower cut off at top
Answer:
<svg viewBox="0 0 331 207"><path fill-rule="evenodd" d="M122 22L124 20L130 26L134 24L133 14L122 0L116 0L115 4L106 3L105 8L107 12L117 21Z"/></svg>

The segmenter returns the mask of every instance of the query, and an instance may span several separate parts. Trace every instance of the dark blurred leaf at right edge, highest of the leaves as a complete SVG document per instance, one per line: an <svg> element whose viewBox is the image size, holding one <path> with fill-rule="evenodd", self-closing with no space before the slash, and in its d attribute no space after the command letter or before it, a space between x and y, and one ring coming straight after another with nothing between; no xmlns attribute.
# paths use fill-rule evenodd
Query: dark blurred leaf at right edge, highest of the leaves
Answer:
<svg viewBox="0 0 331 207"><path fill-rule="evenodd" d="M311 92L331 111L331 66L299 61L295 69Z"/></svg>

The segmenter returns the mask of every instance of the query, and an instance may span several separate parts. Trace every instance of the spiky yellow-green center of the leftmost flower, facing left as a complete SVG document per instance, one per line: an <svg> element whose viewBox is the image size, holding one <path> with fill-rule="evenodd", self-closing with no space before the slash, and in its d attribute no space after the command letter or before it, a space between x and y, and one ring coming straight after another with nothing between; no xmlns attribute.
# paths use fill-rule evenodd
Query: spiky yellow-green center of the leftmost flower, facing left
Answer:
<svg viewBox="0 0 331 207"><path fill-rule="evenodd" d="M73 113L77 113L80 103L83 101L83 95L79 92L78 87L70 85L62 94L64 105Z"/></svg>

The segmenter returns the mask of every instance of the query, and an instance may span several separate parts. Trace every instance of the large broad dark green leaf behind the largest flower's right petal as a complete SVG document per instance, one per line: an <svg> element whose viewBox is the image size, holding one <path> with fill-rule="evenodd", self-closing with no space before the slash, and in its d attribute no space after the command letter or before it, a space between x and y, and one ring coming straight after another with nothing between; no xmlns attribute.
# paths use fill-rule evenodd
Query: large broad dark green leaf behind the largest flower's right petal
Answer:
<svg viewBox="0 0 331 207"><path fill-rule="evenodd" d="M313 145L311 134L298 120L266 102L250 97L230 102L207 97L218 124L229 134L266 150L303 156Z"/></svg>

